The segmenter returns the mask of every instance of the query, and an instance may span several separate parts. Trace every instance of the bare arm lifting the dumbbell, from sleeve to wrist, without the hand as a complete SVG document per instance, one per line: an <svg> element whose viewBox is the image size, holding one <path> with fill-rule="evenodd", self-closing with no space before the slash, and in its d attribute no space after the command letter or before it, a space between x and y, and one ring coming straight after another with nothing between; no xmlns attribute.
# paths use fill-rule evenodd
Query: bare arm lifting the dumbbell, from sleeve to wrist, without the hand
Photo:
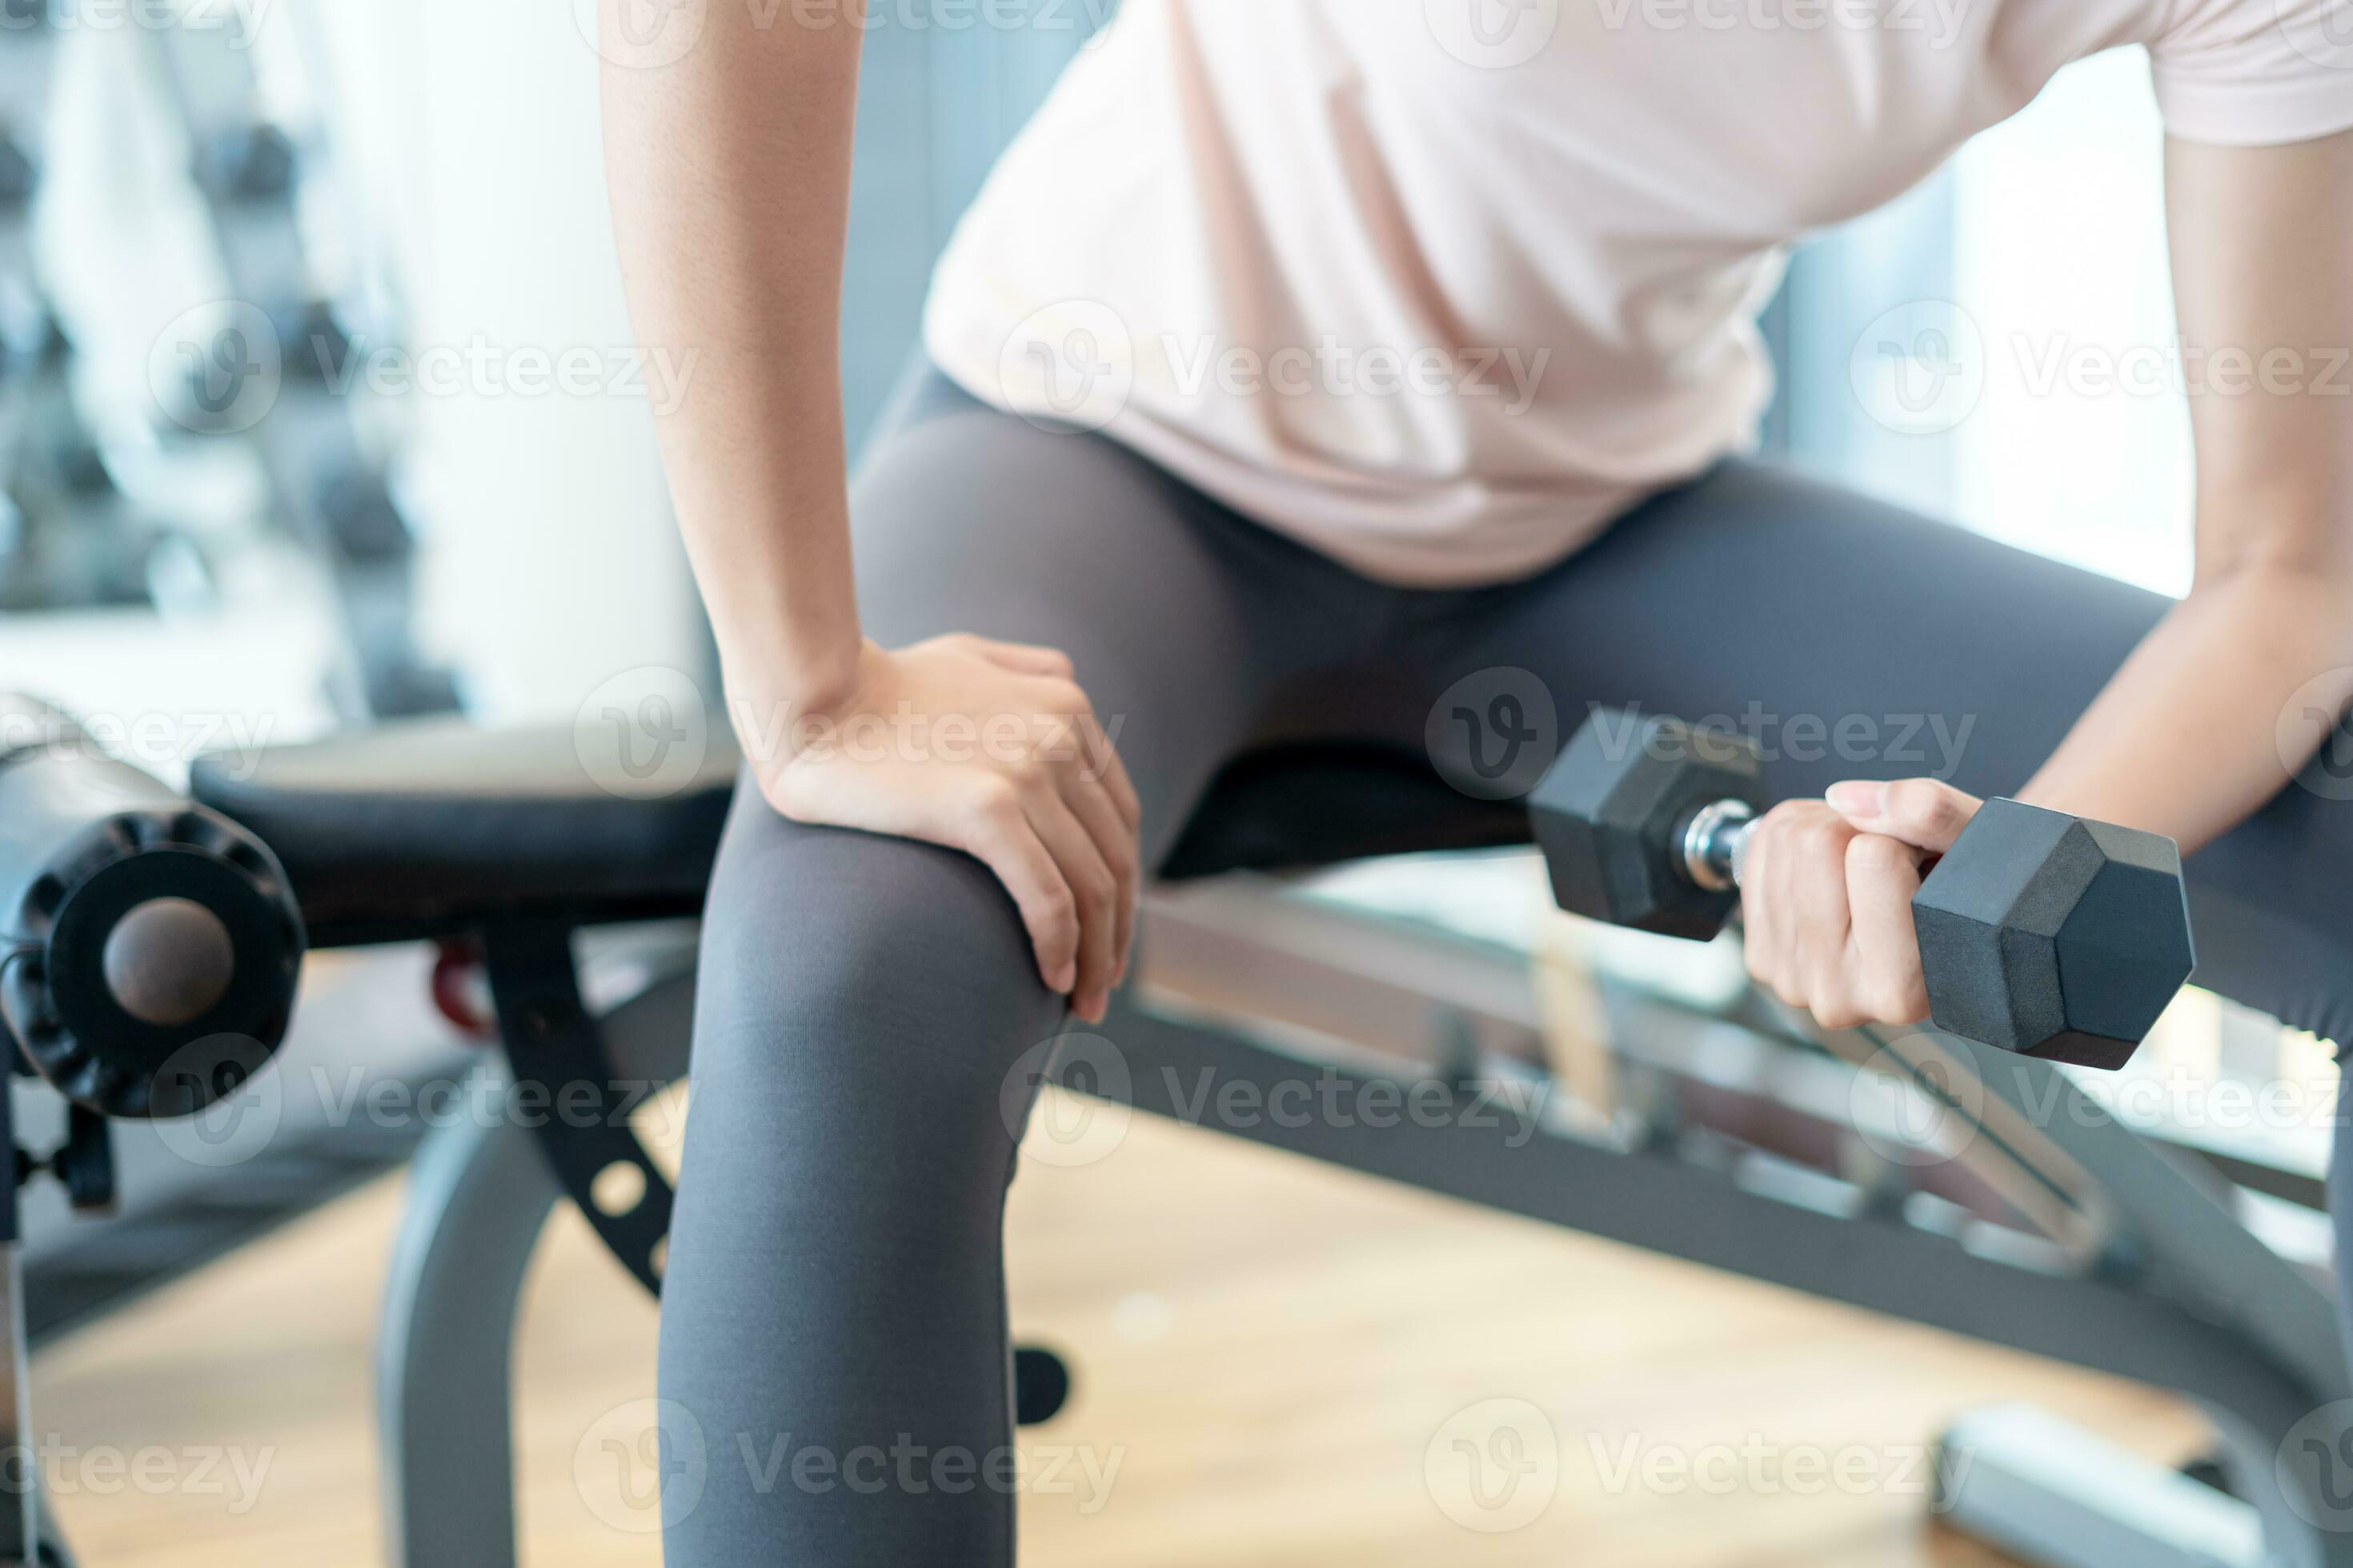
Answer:
<svg viewBox="0 0 2353 1568"><path fill-rule="evenodd" d="M2198 571L2024 795L2195 849L2304 762L2292 701L2318 741L2301 710L2353 698L2353 132L2174 141L2167 207Z"/></svg>

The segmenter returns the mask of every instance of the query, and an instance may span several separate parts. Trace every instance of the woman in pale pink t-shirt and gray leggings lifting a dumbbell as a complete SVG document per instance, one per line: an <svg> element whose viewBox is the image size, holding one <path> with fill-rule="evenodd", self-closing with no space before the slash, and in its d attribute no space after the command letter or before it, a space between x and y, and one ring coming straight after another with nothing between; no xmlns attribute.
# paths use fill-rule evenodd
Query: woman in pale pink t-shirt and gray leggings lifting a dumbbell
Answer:
<svg viewBox="0 0 2353 1568"><path fill-rule="evenodd" d="M936 369L854 491L861 28L607 24L631 308L701 355L661 437L751 757L661 1328L711 1469L668 1561L1012 1561L1000 1098L1101 1018L1139 884L1240 752L1417 750L1494 670L1567 724L1958 717L1941 778L1774 762L1817 799L1753 839L1748 966L1826 1025L1925 1016L1908 898L1981 792L2184 849L2275 795L2282 705L2353 691L2332 9L1132 0L948 247ZM2188 597L1734 461L1779 247L2118 45L2153 59L2181 331L2217 364ZM2233 350L2275 374L2224 388ZM962 1453L965 1483L739 1462L812 1446Z"/></svg>

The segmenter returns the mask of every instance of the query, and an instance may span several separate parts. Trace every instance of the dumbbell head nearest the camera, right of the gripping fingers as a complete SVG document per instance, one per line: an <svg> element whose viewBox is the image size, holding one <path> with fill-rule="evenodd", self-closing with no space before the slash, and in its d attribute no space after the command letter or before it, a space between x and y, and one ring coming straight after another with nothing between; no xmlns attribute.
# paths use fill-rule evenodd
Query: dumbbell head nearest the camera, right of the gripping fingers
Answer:
<svg viewBox="0 0 2353 1568"><path fill-rule="evenodd" d="M2181 851L2155 832L1988 799L1913 896L1939 1030L2122 1067L2195 961Z"/></svg>

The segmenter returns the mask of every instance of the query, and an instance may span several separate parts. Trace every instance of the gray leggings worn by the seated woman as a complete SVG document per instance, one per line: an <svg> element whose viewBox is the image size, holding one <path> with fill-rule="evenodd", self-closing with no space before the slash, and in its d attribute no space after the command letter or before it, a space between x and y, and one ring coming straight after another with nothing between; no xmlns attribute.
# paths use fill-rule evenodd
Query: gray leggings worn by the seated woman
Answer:
<svg viewBox="0 0 2353 1568"><path fill-rule="evenodd" d="M1565 726L1588 703L1755 703L1788 726L1767 780L1784 795L1922 771L2007 792L2165 609L1758 463L1642 503L1537 578L1386 588L939 376L871 449L854 517L878 642L965 630L1071 654L1118 722L1148 863L1233 757L1318 738L1419 755L1438 696L1506 665ZM988 1474L1012 1441L1019 1103L1007 1117L1000 1088L1061 1025L976 860L800 827L739 790L661 1312L668 1422L706 1455L671 1502L673 1568L1014 1561L1014 1500Z"/></svg>

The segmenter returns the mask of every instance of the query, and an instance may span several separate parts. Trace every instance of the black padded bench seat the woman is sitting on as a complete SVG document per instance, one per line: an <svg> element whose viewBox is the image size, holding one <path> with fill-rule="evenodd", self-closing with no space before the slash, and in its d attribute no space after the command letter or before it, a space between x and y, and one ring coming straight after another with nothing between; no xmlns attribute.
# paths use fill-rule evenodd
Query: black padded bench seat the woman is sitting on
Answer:
<svg viewBox="0 0 2353 1568"><path fill-rule="evenodd" d="M675 795L624 799L588 776L569 729L412 719L205 757L191 790L278 853L315 940L334 945L501 912L696 912L734 778L734 750L715 743ZM1518 809L1457 795L1419 757L1304 748L1228 769L1162 877L1525 839Z"/></svg>

